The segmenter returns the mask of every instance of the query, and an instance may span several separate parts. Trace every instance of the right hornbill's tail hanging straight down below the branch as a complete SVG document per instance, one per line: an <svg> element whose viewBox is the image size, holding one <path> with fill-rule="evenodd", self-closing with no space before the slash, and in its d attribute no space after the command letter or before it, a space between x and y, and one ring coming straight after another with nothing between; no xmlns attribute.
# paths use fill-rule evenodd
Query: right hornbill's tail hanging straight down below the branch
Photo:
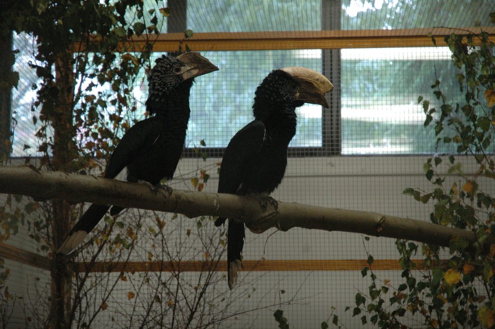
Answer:
<svg viewBox="0 0 495 329"><path fill-rule="evenodd" d="M227 276L229 289L237 282L237 271L242 268L241 253L244 246L244 223L229 220L227 232Z"/></svg>

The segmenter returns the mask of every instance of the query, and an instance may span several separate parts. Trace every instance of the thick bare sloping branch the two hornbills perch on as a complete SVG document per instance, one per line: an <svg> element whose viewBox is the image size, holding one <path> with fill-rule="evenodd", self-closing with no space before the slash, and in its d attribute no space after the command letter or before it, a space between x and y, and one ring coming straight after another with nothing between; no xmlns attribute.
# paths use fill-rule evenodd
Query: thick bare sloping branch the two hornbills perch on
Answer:
<svg viewBox="0 0 495 329"><path fill-rule="evenodd" d="M250 196L178 189L169 194L166 189L154 191L144 184L38 171L27 166L0 167L0 193L28 195L37 200L60 198L70 202L113 204L179 213L189 218L201 215L237 218L254 233L272 227L282 231L301 227L408 239L447 247L454 236L470 244L477 243L472 231L419 220L280 201L277 210L268 205L267 210L263 211L258 201Z"/></svg>

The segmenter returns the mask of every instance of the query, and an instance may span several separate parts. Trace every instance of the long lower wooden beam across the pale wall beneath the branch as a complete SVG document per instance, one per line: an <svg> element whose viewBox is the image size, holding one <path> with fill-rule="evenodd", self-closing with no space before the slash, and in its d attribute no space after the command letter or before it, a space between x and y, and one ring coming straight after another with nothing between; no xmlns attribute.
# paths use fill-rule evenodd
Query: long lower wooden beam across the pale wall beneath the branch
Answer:
<svg viewBox="0 0 495 329"><path fill-rule="evenodd" d="M416 269L425 269L422 260L413 260ZM242 271L360 271L369 267L366 260L277 260L277 261L242 261ZM402 270L398 260L378 259L371 266L373 270L396 271ZM187 261L187 262L97 262L77 263L78 272L200 272L227 271L227 262Z"/></svg>

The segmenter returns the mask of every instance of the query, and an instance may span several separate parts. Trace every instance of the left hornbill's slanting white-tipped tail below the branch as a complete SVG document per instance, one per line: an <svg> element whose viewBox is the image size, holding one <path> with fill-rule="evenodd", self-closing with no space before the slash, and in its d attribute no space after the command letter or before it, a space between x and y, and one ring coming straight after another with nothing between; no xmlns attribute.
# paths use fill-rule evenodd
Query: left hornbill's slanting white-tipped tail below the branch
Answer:
<svg viewBox="0 0 495 329"><path fill-rule="evenodd" d="M105 213L110 208L108 205L92 204L90 208L79 218L79 221L72 227L64 242L60 245L57 253L69 255L72 253L79 243L83 241L85 236L91 232L98 222L105 216Z"/></svg>

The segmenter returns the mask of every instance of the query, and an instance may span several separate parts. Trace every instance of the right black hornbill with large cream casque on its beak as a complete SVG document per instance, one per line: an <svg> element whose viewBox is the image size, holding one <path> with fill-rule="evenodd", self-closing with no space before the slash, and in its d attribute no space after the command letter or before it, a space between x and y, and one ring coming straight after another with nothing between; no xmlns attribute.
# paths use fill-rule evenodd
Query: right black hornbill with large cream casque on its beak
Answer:
<svg viewBox="0 0 495 329"><path fill-rule="evenodd" d="M287 165L287 147L296 134L296 107L304 103L328 107L324 95L332 89L333 85L326 77L304 67L286 67L270 72L255 93L255 120L237 132L225 149L218 192L250 194L259 199L273 192L282 181ZM215 225L220 226L225 220L220 217ZM230 218L227 231L230 289L242 266L244 237L244 224Z"/></svg>

